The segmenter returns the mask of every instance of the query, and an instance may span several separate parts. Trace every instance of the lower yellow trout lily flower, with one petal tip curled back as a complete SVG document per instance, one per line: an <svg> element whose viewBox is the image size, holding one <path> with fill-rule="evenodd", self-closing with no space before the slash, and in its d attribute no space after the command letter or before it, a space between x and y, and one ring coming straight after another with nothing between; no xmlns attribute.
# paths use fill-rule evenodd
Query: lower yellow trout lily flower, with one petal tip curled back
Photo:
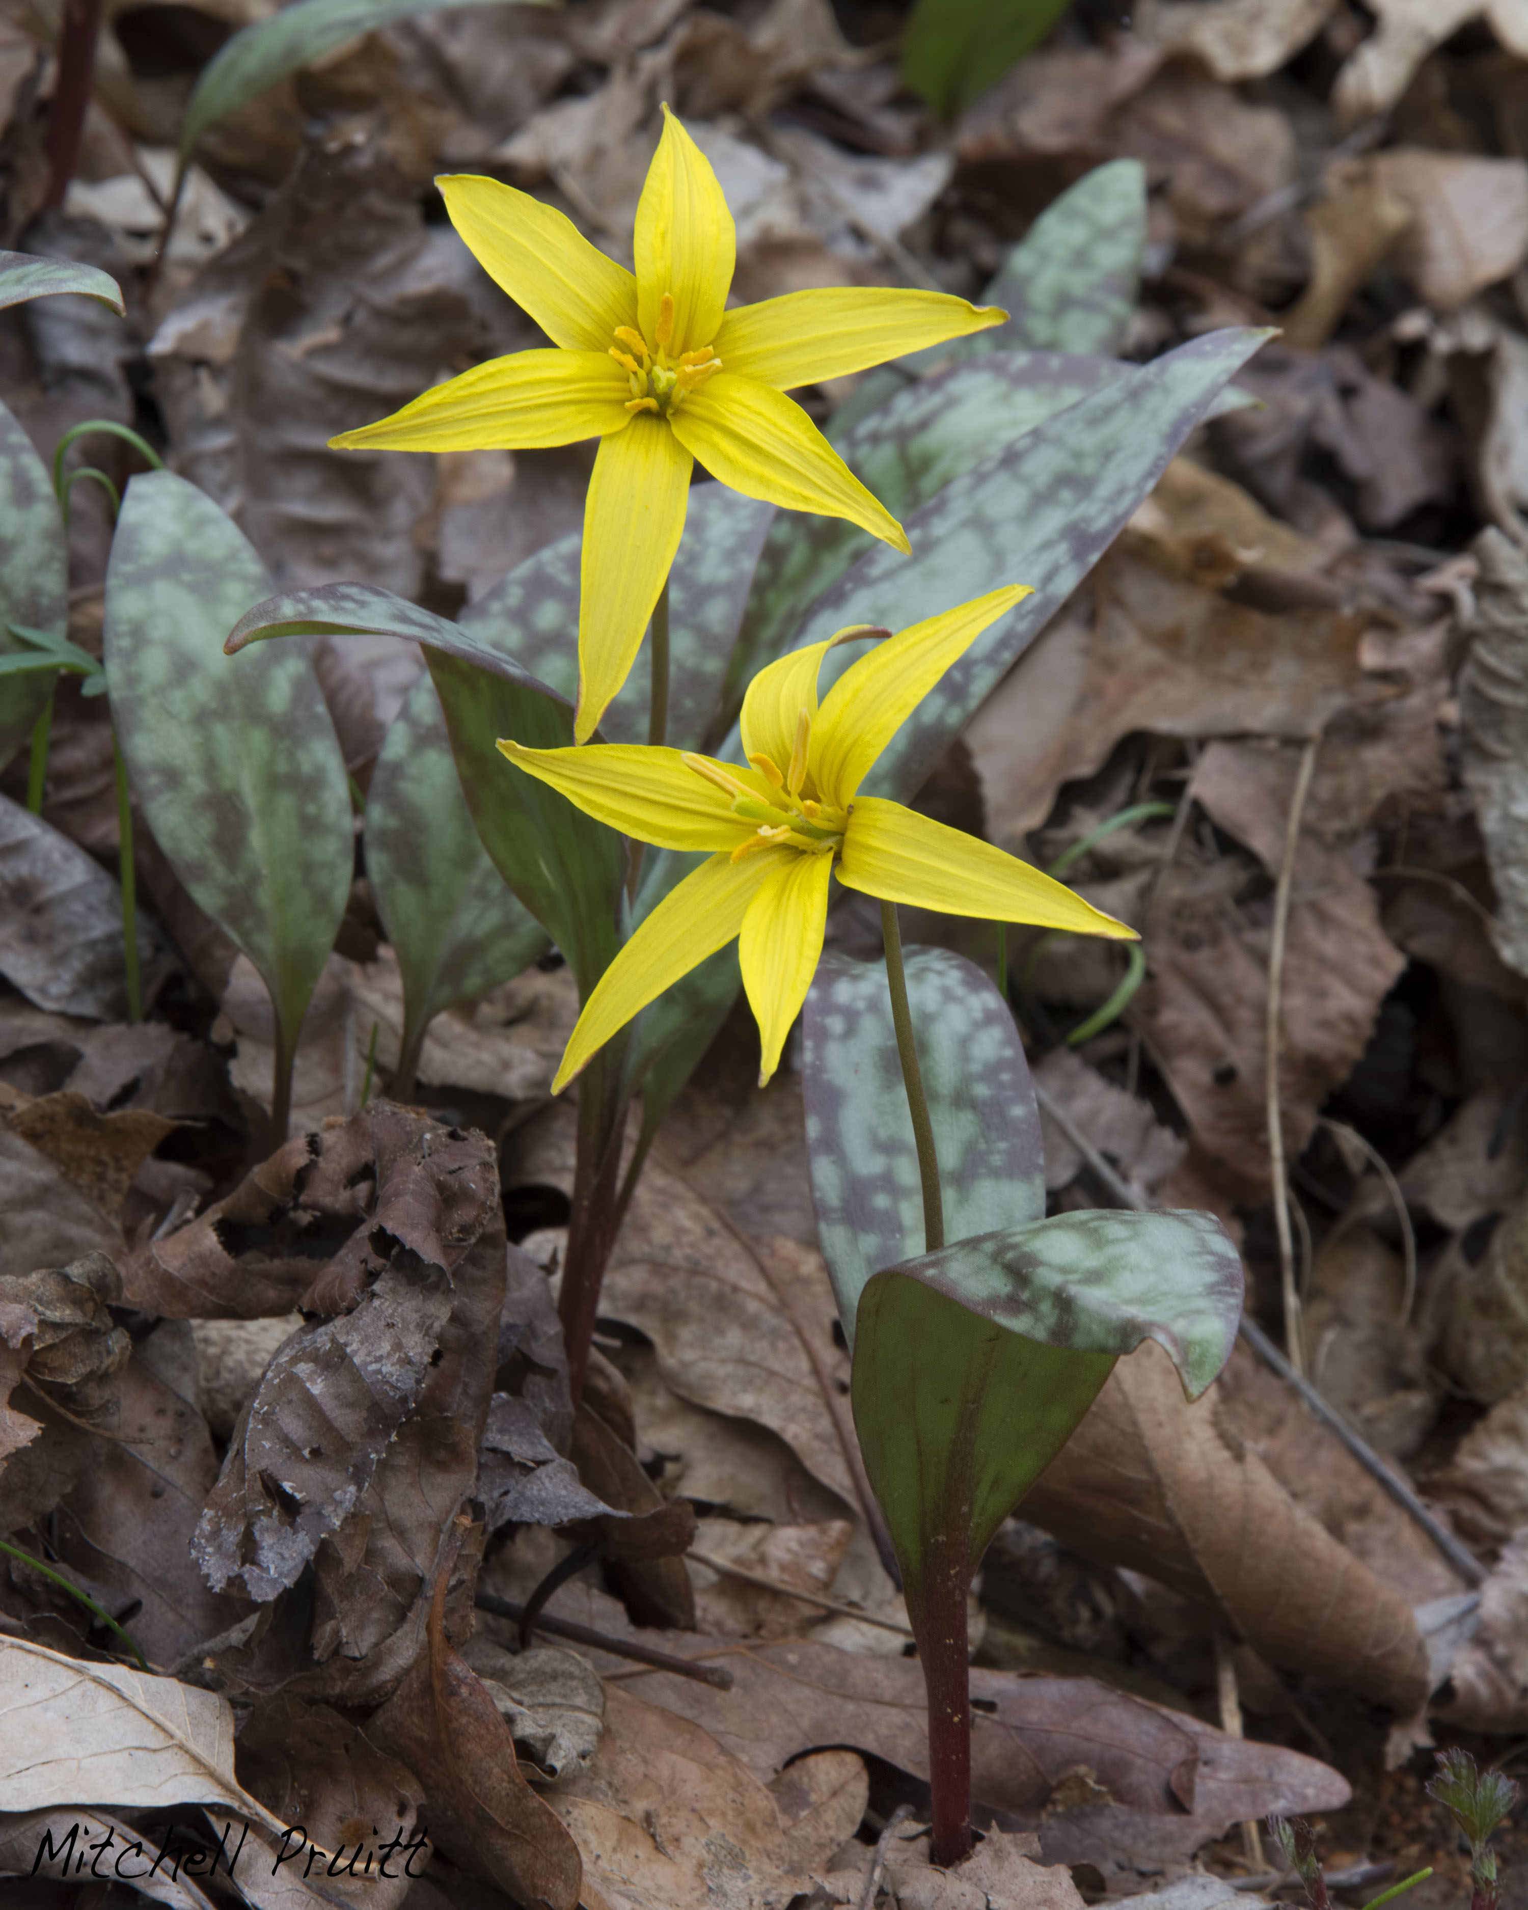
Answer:
<svg viewBox="0 0 1528 1910"><path fill-rule="evenodd" d="M743 699L749 768L680 749L499 749L588 816L638 842L711 850L640 924L588 997L552 1093L617 1029L733 936L758 1018L760 1087L806 1001L823 949L831 873L882 902L1081 934L1135 930L978 837L860 785L944 672L1020 598L993 590L915 623L850 665L817 705L840 630L760 670Z"/></svg>

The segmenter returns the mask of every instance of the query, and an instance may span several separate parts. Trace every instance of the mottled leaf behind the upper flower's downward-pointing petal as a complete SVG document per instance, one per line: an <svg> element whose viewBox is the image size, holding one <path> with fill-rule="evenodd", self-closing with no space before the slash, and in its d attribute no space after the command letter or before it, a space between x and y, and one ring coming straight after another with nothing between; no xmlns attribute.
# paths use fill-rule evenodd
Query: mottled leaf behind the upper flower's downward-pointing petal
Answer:
<svg viewBox="0 0 1528 1910"><path fill-rule="evenodd" d="M690 493L684 541L668 573L668 741L699 749L716 716L754 565L775 510L720 483ZM579 688L579 531L527 558L462 613L462 628L512 651L573 697ZM647 741L651 644L600 724L607 743Z"/></svg>

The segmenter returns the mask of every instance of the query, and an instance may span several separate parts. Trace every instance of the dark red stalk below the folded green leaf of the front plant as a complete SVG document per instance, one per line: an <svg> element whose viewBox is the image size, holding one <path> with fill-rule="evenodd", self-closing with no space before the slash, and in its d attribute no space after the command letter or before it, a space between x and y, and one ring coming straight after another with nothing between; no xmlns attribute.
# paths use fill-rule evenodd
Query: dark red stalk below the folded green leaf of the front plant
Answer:
<svg viewBox="0 0 1528 1910"><path fill-rule="evenodd" d="M932 1536L926 1570L907 1574L907 1618L928 1692L928 1786L934 1793L932 1857L949 1870L970 1855L970 1639L966 1629L966 1526L951 1509ZM957 1530L959 1528L959 1530Z"/></svg>

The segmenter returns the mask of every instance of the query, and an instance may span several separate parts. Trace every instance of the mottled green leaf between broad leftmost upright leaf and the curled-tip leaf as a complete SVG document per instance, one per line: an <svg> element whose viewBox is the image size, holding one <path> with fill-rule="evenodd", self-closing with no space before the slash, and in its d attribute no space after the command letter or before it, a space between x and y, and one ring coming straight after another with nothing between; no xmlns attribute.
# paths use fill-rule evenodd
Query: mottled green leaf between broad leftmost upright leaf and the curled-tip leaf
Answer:
<svg viewBox="0 0 1528 1910"><path fill-rule="evenodd" d="M435 686L420 676L367 791L367 875L403 976L413 1056L453 1001L508 982L546 951L474 827Z"/></svg>

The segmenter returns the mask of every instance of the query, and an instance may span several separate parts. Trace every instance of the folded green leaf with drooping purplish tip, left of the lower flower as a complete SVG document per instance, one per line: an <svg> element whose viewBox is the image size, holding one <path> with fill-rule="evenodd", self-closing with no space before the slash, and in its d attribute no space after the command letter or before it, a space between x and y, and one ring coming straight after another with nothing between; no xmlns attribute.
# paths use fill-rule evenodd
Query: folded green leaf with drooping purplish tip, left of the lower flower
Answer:
<svg viewBox="0 0 1528 1910"><path fill-rule="evenodd" d="M235 625L227 647L306 634L386 634L424 646L478 835L588 995L617 947L621 844L604 823L495 749L500 737L535 749L571 745L567 699L502 647L499 619L447 623L371 584L325 584L267 598Z"/></svg>

